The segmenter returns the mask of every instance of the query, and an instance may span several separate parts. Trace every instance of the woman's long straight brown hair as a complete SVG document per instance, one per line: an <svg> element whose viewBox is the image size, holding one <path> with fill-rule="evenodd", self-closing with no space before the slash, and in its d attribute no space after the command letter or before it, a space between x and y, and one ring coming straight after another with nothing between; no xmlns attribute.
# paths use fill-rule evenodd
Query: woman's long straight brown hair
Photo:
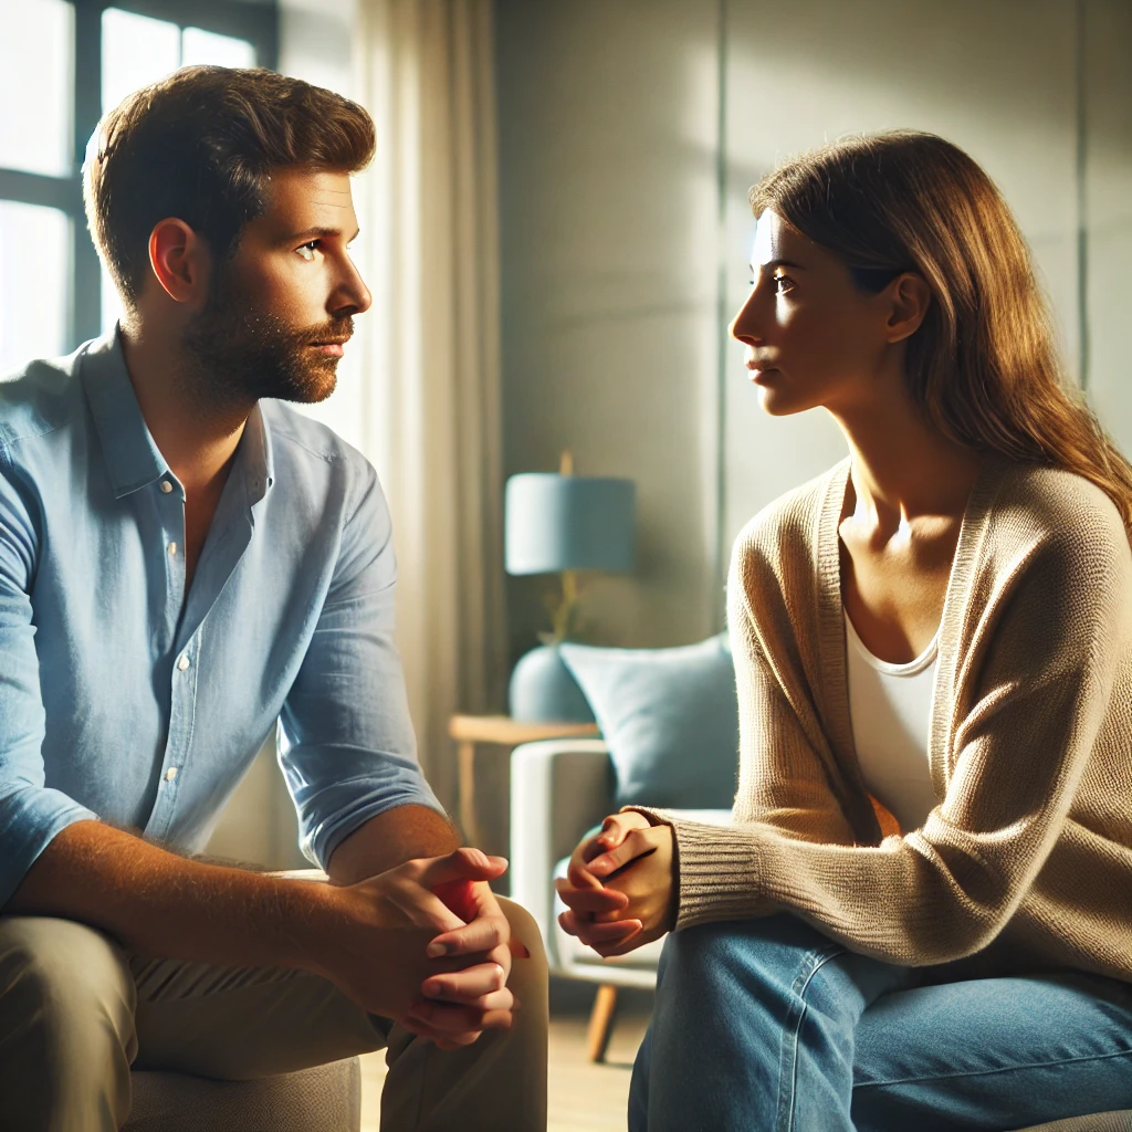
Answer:
<svg viewBox="0 0 1132 1132"><path fill-rule="evenodd" d="M934 301L907 377L928 420L968 447L1083 475L1132 529L1132 465L1066 383L1026 241L962 149L914 130L841 138L767 174L751 205L841 256L866 290L919 273Z"/></svg>

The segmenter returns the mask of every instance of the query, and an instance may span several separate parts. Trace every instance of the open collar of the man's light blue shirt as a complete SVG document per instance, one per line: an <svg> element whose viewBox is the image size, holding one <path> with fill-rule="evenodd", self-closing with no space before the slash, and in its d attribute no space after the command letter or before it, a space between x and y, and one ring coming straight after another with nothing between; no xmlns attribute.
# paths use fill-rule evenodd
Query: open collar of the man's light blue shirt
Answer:
<svg viewBox="0 0 1132 1132"><path fill-rule="evenodd" d="M117 331L91 343L83 357L82 375L114 498L121 499L165 475L169 462L142 415ZM254 505L275 480L271 431L258 404L248 417L242 445L248 503Z"/></svg>

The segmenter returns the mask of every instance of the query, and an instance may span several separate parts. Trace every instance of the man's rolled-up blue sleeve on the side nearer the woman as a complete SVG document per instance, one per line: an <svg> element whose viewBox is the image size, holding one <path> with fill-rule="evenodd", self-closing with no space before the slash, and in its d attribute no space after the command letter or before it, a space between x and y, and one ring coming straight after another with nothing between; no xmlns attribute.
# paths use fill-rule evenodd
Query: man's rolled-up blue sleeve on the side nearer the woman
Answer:
<svg viewBox="0 0 1132 1132"><path fill-rule="evenodd" d="M281 714L280 763L300 844L326 867L371 817L439 804L421 773L394 644L396 565L389 512L372 468L346 518L317 627Z"/></svg>

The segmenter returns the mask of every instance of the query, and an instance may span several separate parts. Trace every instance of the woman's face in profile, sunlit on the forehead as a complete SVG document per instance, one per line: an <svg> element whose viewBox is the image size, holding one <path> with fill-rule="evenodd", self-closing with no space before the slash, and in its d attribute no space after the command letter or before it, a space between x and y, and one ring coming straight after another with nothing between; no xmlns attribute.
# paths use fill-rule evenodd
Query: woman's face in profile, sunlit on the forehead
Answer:
<svg viewBox="0 0 1132 1132"><path fill-rule="evenodd" d="M824 405L867 408L892 367L892 295L861 291L826 248L764 212L755 228L752 290L731 323L763 409L781 417Z"/></svg>

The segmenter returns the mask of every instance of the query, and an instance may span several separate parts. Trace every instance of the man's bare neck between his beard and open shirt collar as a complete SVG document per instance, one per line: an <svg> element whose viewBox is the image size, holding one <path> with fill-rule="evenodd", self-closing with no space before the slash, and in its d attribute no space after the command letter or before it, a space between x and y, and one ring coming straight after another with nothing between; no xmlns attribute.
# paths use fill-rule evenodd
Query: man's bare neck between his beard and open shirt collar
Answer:
<svg viewBox="0 0 1132 1132"><path fill-rule="evenodd" d="M164 335L121 332L122 352L142 415L170 471L189 496L223 487L252 405L218 406L182 380L186 361Z"/></svg>

